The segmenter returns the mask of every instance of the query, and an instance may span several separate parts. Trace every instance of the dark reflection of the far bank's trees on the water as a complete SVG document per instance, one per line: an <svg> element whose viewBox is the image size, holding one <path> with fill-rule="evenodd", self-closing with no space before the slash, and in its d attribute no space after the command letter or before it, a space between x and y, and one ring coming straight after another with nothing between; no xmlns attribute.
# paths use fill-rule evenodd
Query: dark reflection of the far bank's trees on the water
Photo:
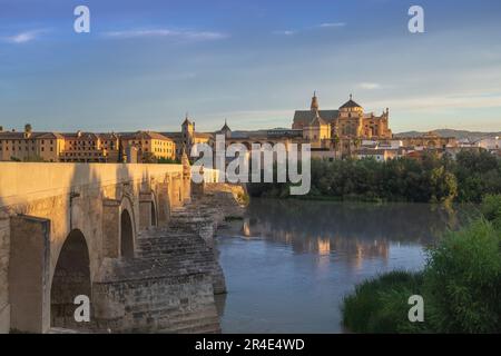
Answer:
<svg viewBox="0 0 501 356"><path fill-rule="evenodd" d="M361 240L391 239L426 244L444 227L456 225L456 212L428 204L357 204L299 200L254 200L245 236L286 243L334 236ZM287 234L288 233L288 234ZM312 251L302 250L298 251Z"/></svg>

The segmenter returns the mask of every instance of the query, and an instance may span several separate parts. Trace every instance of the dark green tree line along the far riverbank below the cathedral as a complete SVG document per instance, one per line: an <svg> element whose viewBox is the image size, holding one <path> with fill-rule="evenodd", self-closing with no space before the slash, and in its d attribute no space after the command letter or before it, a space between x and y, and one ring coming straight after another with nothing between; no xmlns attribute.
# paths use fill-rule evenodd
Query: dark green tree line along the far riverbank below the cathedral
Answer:
<svg viewBox="0 0 501 356"><path fill-rule="evenodd" d="M253 197L287 198L289 184L249 184ZM386 162L312 160L312 188L305 199L480 202L501 194L501 159L487 151L462 151L456 159L425 155L423 160ZM295 196L297 198L297 196Z"/></svg>

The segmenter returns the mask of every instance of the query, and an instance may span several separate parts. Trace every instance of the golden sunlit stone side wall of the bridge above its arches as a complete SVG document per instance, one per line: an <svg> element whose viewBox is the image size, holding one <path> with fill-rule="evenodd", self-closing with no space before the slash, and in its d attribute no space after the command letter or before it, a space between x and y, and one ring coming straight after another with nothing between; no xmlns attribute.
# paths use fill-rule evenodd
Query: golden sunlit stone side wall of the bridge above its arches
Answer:
<svg viewBox="0 0 501 356"><path fill-rule="evenodd" d="M79 230L85 236L94 279L105 258L119 257L117 217L124 209L130 214L137 235L141 222L139 196L145 187L157 200L157 190L166 190L164 224L169 218L169 208L165 207L170 205L169 197L176 196L177 204L183 204L190 194L189 189L184 191L186 184L176 181L183 179L180 165L0 162L0 333L9 330L12 315L8 283L10 240L17 238L11 236L12 217L50 220L49 278L43 286L45 299L50 300L53 271L70 231ZM107 212L110 201L115 210Z"/></svg>

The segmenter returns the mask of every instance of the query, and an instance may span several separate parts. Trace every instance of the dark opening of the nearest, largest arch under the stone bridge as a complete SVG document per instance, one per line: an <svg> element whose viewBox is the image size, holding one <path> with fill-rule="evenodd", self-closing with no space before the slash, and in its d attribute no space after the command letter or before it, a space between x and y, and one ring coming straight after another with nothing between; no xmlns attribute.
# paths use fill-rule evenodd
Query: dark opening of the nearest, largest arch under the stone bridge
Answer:
<svg viewBox="0 0 501 356"><path fill-rule="evenodd" d="M81 230L71 230L59 253L50 287L50 325L52 327L80 328L75 320L73 304L79 295L92 300L90 257Z"/></svg>

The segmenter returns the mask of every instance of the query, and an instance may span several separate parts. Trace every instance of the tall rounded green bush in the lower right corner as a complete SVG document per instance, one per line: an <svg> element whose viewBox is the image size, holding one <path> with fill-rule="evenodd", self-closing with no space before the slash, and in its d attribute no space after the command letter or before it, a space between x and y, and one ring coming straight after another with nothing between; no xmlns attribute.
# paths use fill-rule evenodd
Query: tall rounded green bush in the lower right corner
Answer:
<svg viewBox="0 0 501 356"><path fill-rule="evenodd" d="M500 243L492 225L478 219L429 251L424 294L435 330L501 332Z"/></svg>

